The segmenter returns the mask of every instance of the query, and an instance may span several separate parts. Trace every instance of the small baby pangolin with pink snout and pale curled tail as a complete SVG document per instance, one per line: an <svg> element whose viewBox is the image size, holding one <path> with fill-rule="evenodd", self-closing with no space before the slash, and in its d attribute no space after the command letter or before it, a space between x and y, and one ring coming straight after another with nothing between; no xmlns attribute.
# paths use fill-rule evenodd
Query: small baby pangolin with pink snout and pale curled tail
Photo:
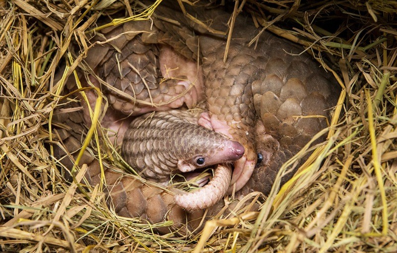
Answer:
<svg viewBox="0 0 397 253"><path fill-rule="evenodd" d="M236 161L243 156L244 146L197 125L197 119L188 112L173 110L133 120L124 135L121 152L141 176L166 184L171 175ZM230 181L230 166L218 166L209 184L176 195L175 201L188 210L206 208L226 194Z"/></svg>

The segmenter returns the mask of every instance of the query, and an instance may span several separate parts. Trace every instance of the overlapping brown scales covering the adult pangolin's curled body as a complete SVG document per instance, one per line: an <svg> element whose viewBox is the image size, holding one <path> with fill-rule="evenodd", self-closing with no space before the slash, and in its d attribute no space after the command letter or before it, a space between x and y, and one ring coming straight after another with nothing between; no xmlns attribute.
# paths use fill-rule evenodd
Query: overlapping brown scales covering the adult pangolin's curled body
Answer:
<svg viewBox="0 0 397 253"><path fill-rule="evenodd" d="M219 9L202 11L195 8L189 11L196 12L200 20L215 20L212 28L226 31L225 24L229 14ZM160 5L155 13L167 16L170 10ZM176 19L181 24L192 23L192 21L186 21L179 12L172 11L171 13L173 14L169 18ZM199 61L202 63L206 108L209 114L228 122L231 126L230 133L235 139L255 151L249 153L249 156L256 156L256 152L268 154L267 159L264 159L256 168L252 178L239 194L245 195L254 190L267 193L280 166L296 154L315 133L327 126L324 118L297 118L295 116L329 117L328 109L335 105L337 99L337 92L333 92L335 85L331 75L320 68L319 64L307 54L292 56L285 53L284 50L300 53L302 49L269 33L262 34L256 49L247 47L248 40L257 35L258 30L251 23L245 23L250 22L245 18L238 17L236 20L226 63L223 63L225 36L207 36L208 32L197 24L194 24L194 27L206 34L193 36L194 33L189 26L175 26L156 18L153 18L153 21L154 30L150 33L123 35L116 41L110 42L112 46L111 44L105 47L96 46L88 54L86 61L90 67L98 71L106 81L116 83L117 89L127 93L124 97L119 93L115 97L110 96L110 103L123 108L124 100L131 100L131 97L150 101L147 87L142 86L139 78L131 74L133 71L130 64L123 62L126 59L135 68L147 74L146 78L150 82L147 86L150 92L153 92L151 94L156 94L157 97L163 96L162 98L166 96L165 93L177 95L181 91L173 86L175 82L167 82L169 86L157 85L159 79L156 56L158 52L153 49L152 45L148 50L146 46L150 43L163 43L189 59L197 59L198 44L196 42L199 37ZM149 31L149 22L129 22L103 32L112 37L125 31L142 30ZM133 46L129 44L130 42ZM143 46L140 45L141 42ZM124 69L122 73L110 66L116 64L113 48L129 52L129 56L122 56L119 59ZM146 54L147 52L150 53ZM110 65L103 64L102 60L110 61L107 63ZM151 74L155 77L151 77ZM120 78L120 75L123 78ZM131 82L126 83L124 77L130 77L129 75L132 76ZM114 92L109 91L109 93ZM134 108L140 106L143 105L135 104ZM127 107L131 108L131 106L124 106L124 108ZM76 116L75 119L78 117ZM71 116L66 116L66 119L60 119L60 121L71 119ZM79 125L81 120L75 119L75 123L72 124ZM74 138L73 134L68 133L64 137L69 152L79 148L79 141L69 140ZM87 178L93 185L99 182L98 162L88 158L90 155L86 153L87 158L83 160L89 165ZM61 155L63 152L59 152L59 156ZM64 164L69 167L71 164L66 160L64 159ZM111 203L119 215L139 216L151 223L173 220L175 225L171 230L182 229L181 234L186 234L186 229L192 231L198 227L199 223L194 220L200 217L202 212L187 213L182 210L173 202L172 191L168 193L160 188L149 188L132 177L127 176L121 179L120 176L120 173L111 172L110 169L105 172L108 187L114 185L111 188L110 196L113 199ZM287 178L284 178L284 181L286 180ZM139 205L138 202L142 204ZM219 205L214 208L219 208ZM160 215L153 213L153 210ZM186 220L190 222L187 228L183 226ZM166 228L166 231L168 229ZM161 229L160 232L165 231Z"/></svg>

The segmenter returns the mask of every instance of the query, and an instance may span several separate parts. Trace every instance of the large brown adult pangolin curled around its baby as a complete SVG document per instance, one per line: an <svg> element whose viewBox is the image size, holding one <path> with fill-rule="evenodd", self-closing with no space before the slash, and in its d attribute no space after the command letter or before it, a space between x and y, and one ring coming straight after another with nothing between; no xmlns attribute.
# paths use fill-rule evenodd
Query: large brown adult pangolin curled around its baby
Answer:
<svg viewBox="0 0 397 253"><path fill-rule="evenodd" d="M205 111L198 124L244 147L244 155L234 162L230 186L226 186L228 191L235 190L237 196L252 191L266 194L281 165L327 126L326 119L338 97L337 85L309 54L300 54L301 47L268 32L261 33L249 46L250 40L261 31L251 17L237 16L227 42L230 13L222 7L186 5L190 15L184 15L176 3L164 1L150 20L103 29L91 40L94 46L85 59L85 68L92 70L87 83L101 87L112 106L101 124L109 129L109 135L117 132L117 137L111 140L121 143L126 131L131 131L128 126L133 116L181 106L192 109L205 99ZM68 83L69 89L72 84ZM88 97L95 95L88 93ZM76 120L66 115L66 120L79 124L82 118L88 119L88 110L79 117ZM60 120L65 121L65 117ZM174 131L178 132L178 128ZM73 134L64 136L69 151L78 147L78 142L71 140ZM132 144L124 145L134 147L133 138L125 141ZM144 144L141 145L144 150ZM153 162L150 145L143 155L148 157L146 165ZM181 147L168 147L174 148ZM123 153L129 160L128 150L124 149ZM60 151L59 155L62 154ZM91 165L88 181L95 185L99 182L98 163L88 154L85 158ZM175 157L175 161L178 159ZM218 169L227 171L227 166L230 164L219 165ZM155 177L155 171L150 171L149 176ZM173 229L181 229L188 221L185 229L191 231L199 226L195 220L202 212L186 212L175 204L173 195L202 198L205 207L214 204L206 200L208 191L184 195L175 189L171 193L148 190L133 177L120 175L110 170L105 172L107 185L112 186L108 187L109 203L121 216L140 216L152 223L169 219L174 221ZM283 181L291 176L292 173ZM216 185L210 187L211 191L217 190ZM189 199L185 197L183 201ZM196 209L190 208L190 204L182 206Z"/></svg>

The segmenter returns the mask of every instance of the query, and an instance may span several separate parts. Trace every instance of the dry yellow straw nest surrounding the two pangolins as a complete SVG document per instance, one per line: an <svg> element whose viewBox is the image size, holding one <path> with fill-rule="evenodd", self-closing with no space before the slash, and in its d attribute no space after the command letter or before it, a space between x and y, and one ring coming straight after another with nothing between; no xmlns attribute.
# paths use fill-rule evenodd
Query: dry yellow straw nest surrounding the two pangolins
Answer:
<svg viewBox="0 0 397 253"><path fill-rule="evenodd" d="M66 61L72 74L81 61L70 43L86 48L100 16L135 15L135 4L0 0L0 251L397 251L395 1L237 1L257 25L302 44L342 92L328 141L292 180L259 212L214 219L190 240L117 217L100 191L66 183L48 148L59 145L52 113L65 102L54 73Z"/></svg>

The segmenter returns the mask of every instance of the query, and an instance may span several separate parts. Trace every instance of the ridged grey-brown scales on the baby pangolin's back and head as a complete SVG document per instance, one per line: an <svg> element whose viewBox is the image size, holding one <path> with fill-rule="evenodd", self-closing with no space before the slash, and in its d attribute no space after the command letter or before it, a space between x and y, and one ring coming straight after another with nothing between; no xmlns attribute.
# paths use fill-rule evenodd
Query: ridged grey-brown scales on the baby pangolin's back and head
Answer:
<svg viewBox="0 0 397 253"><path fill-rule="evenodd" d="M144 178L168 181L178 161L191 162L224 149L225 137L197 125L185 111L157 112L134 119L122 144L122 155ZM193 162L193 161L192 161Z"/></svg>

